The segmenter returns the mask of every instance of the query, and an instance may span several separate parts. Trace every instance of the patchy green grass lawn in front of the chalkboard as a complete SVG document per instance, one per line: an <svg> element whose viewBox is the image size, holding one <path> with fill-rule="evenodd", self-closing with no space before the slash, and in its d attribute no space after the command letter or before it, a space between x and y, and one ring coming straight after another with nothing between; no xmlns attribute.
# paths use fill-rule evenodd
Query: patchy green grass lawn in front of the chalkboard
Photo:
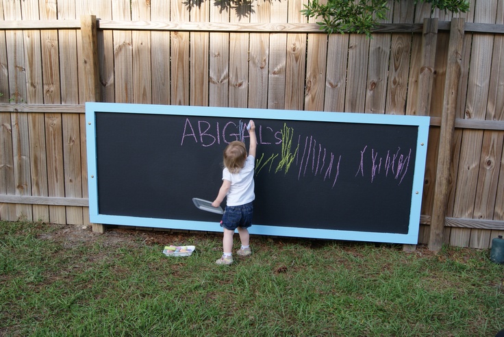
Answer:
<svg viewBox="0 0 504 337"><path fill-rule="evenodd" d="M488 250L0 222L0 336L494 336L504 266ZM74 229L75 230L75 229ZM112 240L113 239L113 240ZM235 240L238 245L238 236ZM187 258L164 245L196 245ZM237 247L238 248L238 247Z"/></svg>

